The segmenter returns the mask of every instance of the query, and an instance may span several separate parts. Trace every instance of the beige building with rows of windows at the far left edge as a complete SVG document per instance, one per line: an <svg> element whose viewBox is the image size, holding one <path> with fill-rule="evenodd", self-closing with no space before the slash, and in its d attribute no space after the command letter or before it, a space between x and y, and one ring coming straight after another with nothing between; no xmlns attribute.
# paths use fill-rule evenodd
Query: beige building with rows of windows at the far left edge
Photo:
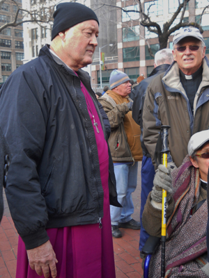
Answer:
<svg viewBox="0 0 209 278"><path fill-rule="evenodd" d="M22 0L17 0L19 6L22 6ZM17 6L14 2L6 0L0 8L0 26L12 22L15 18ZM22 18L21 14L18 18ZM23 27L21 25L8 27L0 33L0 83L8 79L8 76L17 67L22 65L24 59Z"/></svg>

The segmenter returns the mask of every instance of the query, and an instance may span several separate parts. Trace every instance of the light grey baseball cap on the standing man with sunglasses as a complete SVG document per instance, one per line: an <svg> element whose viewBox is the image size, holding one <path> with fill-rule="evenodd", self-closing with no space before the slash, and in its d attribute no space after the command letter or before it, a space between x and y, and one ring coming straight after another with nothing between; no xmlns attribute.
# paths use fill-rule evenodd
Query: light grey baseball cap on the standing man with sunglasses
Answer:
<svg viewBox="0 0 209 278"><path fill-rule="evenodd" d="M180 40L186 37L194 37L198 40L201 40L201 42L204 42L203 36L201 35L200 31L198 28L194 27L184 27L180 28L174 33L173 36L173 45L177 44Z"/></svg>

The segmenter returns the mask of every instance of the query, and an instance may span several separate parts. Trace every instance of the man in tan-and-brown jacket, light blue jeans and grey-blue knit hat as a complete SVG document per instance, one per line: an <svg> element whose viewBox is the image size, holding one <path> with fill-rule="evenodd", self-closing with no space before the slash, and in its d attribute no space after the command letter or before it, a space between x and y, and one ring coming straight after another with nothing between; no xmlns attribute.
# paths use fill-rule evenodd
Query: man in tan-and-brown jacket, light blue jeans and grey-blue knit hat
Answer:
<svg viewBox="0 0 209 278"><path fill-rule="evenodd" d="M141 130L132 118L132 99L130 78L124 72L111 72L110 89L100 99L104 111L107 113L111 126L109 147L114 172L116 175L116 189L118 202L123 208L110 207L111 231L114 238L121 238L121 228L140 229L140 222L132 219L134 205L132 193L137 188L138 161L142 160L140 142Z"/></svg>

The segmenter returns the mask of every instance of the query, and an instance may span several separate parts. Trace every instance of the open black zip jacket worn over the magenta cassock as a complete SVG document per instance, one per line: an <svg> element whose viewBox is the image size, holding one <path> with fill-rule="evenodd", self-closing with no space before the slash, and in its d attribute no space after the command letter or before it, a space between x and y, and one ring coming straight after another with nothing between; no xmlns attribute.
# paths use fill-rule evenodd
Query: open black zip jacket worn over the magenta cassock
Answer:
<svg viewBox="0 0 209 278"><path fill-rule="evenodd" d="M89 76L77 74L107 140ZM26 249L48 240L46 228L93 224L103 216L98 150L79 78L45 46L1 89L0 126L13 154L6 197ZM110 152L109 197L120 206Z"/></svg>

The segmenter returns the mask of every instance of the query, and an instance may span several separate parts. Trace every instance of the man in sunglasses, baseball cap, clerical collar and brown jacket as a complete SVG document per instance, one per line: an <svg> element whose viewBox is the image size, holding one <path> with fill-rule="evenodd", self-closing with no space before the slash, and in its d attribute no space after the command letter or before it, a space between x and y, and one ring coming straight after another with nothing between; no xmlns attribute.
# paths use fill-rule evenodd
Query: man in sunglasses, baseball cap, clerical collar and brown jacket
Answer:
<svg viewBox="0 0 209 278"><path fill-rule="evenodd" d="M185 27L173 36L174 62L148 86L144 101L144 143L155 170L155 146L162 125L169 125L168 161L179 167L192 134L208 129L209 61L199 29Z"/></svg>

